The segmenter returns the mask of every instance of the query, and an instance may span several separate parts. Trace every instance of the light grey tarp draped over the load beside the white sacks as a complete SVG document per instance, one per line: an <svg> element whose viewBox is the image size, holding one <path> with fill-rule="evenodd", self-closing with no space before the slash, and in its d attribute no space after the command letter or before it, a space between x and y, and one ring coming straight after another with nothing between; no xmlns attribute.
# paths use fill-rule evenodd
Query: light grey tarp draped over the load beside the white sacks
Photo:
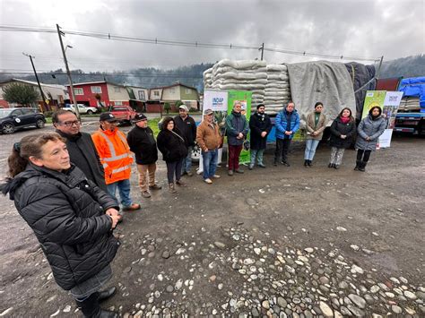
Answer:
<svg viewBox="0 0 425 318"><path fill-rule="evenodd" d="M317 101L324 105L328 125L343 107L356 114L356 99L350 73L343 63L326 61L286 64L290 75L292 101L299 112L301 127Z"/></svg>

